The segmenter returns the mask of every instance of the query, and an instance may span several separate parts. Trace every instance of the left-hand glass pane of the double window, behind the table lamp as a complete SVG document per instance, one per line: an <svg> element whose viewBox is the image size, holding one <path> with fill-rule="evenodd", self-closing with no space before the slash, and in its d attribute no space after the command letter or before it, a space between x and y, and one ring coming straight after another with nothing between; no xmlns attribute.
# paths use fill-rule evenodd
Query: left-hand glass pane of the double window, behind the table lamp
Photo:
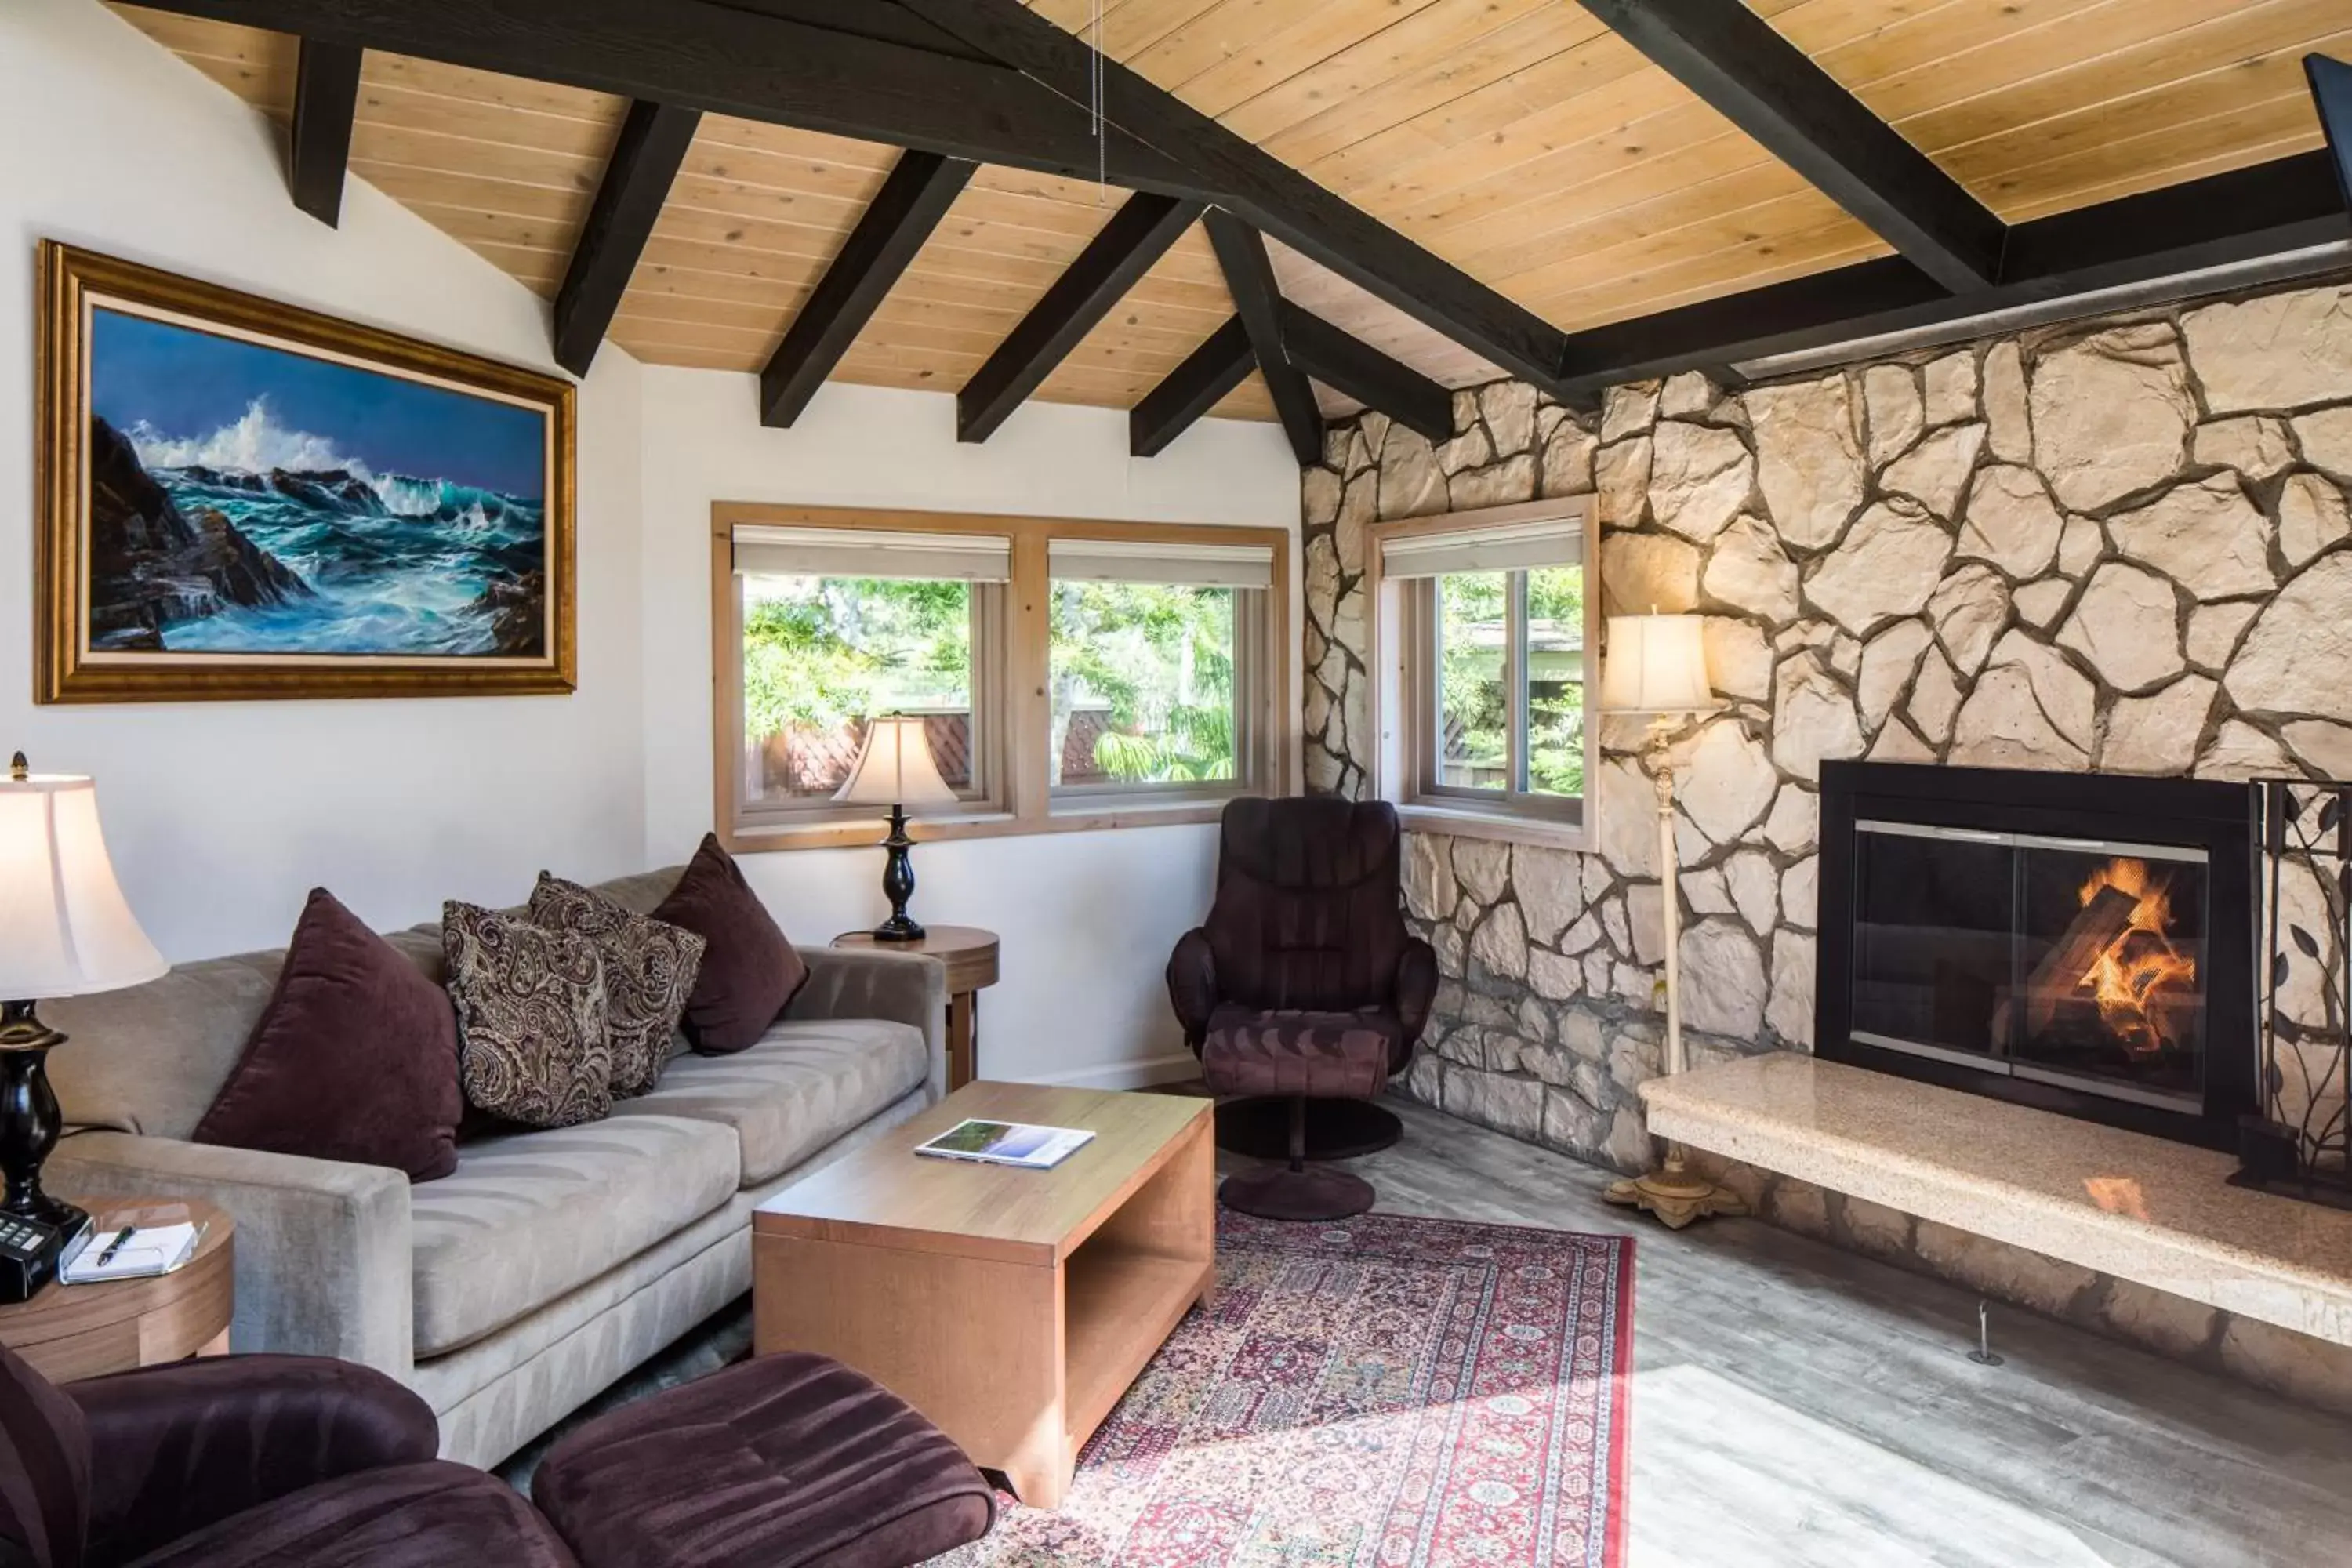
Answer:
<svg viewBox="0 0 2352 1568"><path fill-rule="evenodd" d="M971 583L746 576L748 802L840 790L877 712L924 715L938 776L974 788Z"/></svg>

